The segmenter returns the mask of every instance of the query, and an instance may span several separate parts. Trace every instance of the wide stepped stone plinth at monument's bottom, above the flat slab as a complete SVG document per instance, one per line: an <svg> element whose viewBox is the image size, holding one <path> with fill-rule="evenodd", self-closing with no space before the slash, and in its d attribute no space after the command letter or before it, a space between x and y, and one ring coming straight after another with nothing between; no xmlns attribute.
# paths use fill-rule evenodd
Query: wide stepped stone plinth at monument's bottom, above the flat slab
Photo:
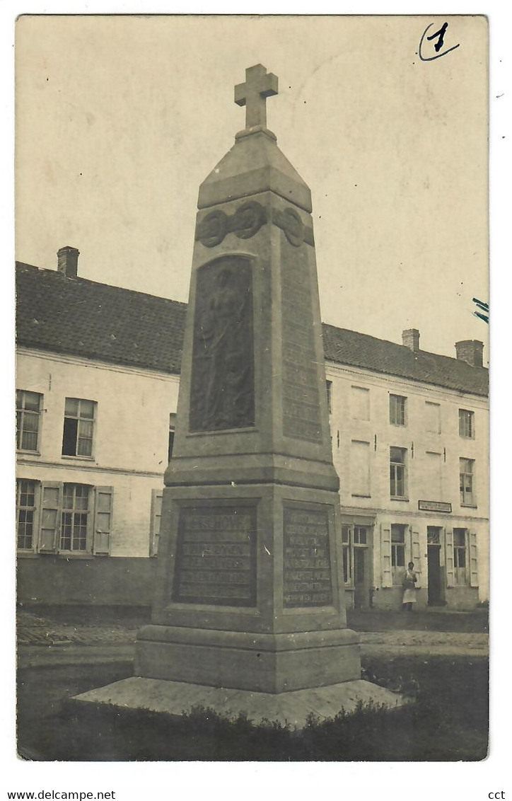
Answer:
<svg viewBox="0 0 512 801"><path fill-rule="evenodd" d="M358 636L348 629L295 634L144 626L135 674L173 682L283 693L361 676Z"/></svg>

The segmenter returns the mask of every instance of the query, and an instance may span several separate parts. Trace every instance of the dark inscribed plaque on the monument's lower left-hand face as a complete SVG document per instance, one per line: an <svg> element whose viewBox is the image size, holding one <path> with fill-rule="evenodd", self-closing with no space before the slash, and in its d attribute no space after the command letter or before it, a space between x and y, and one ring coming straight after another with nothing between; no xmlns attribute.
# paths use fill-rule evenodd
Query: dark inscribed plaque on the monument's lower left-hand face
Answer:
<svg viewBox="0 0 512 801"><path fill-rule="evenodd" d="M173 600L255 606L255 538L254 506L181 509Z"/></svg>

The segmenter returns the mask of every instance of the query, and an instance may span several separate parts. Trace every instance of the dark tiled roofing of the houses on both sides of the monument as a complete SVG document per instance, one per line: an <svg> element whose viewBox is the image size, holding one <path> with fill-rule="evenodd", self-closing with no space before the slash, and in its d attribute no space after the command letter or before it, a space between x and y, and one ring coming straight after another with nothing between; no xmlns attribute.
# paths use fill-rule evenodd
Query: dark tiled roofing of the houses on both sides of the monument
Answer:
<svg viewBox="0 0 512 801"><path fill-rule="evenodd" d="M179 373L186 304L17 264L18 344ZM486 396L488 371L323 324L326 360Z"/></svg>

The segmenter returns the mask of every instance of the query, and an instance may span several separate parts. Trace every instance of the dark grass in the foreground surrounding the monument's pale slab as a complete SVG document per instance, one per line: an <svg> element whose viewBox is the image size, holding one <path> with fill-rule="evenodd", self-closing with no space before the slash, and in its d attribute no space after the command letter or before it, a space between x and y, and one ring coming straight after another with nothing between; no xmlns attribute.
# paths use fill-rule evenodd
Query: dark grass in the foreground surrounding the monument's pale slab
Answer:
<svg viewBox="0 0 512 801"><path fill-rule="evenodd" d="M353 714L340 710L323 721L311 715L300 732L270 721L254 725L243 714L228 719L202 707L175 718L108 706L78 709L66 698L126 673L95 666L84 678L83 667L27 669L20 671L19 751L26 759L70 761L485 758L486 659L400 656L372 658L364 667L382 683L413 682L417 702L386 712L360 704Z"/></svg>

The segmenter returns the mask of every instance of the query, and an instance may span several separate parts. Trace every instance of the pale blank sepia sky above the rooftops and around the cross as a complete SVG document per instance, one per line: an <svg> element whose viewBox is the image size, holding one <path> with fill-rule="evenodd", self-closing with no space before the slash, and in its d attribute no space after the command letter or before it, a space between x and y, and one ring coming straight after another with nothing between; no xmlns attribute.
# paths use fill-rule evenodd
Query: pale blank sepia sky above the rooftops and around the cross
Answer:
<svg viewBox="0 0 512 801"><path fill-rule="evenodd" d="M458 48L422 61L446 21ZM483 17L18 18L16 258L56 268L69 244L79 276L187 300L198 187L262 63L268 127L312 192L322 320L418 328L448 356L487 344L486 48Z"/></svg>

